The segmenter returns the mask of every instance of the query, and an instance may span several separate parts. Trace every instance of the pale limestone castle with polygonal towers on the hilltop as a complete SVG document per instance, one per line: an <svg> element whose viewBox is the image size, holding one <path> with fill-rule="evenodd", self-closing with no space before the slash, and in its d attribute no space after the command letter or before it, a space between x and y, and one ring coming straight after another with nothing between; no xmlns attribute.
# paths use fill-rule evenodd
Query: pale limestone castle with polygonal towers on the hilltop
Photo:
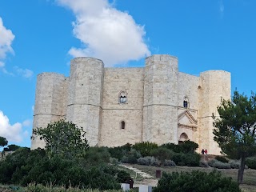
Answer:
<svg viewBox="0 0 256 192"><path fill-rule="evenodd" d="M135 142L197 142L219 154L212 115L221 98L230 99L230 73L209 70L200 76L178 71L178 58L146 58L141 68L104 68L96 58L74 58L70 77L38 74L33 127L60 119L86 130L90 146ZM31 149L44 147L34 138Z"/></svg>

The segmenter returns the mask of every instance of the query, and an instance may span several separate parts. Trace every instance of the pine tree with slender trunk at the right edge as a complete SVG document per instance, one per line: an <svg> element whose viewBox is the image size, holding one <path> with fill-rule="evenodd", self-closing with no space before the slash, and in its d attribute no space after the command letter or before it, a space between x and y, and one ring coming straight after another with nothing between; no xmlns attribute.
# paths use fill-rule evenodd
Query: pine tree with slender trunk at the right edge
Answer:
<svg viewBox="0 0 256 192"><path fill-rule="evenodd" d="M232 101L222 99L219 118L214 118L214 141L222 153L241 159L238 183L242 183L246 158L256 154L256 96L248 98L234 91Z"/></svg>

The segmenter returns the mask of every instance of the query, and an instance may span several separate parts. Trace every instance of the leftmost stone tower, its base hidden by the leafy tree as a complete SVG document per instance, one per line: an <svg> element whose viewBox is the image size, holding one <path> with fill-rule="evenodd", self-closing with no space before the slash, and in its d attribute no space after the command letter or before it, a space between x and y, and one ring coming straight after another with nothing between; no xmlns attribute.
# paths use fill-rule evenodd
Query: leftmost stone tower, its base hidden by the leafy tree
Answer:
<svg viewBox="0 0 256 192"><path fill-rule="evenodd" d="M46 127L50 122L56 122L66 114L66 86L63 74L38 74L37 89L34 104L33 127ZM34 138L31 149L45 146L45 142Z"/></svg>

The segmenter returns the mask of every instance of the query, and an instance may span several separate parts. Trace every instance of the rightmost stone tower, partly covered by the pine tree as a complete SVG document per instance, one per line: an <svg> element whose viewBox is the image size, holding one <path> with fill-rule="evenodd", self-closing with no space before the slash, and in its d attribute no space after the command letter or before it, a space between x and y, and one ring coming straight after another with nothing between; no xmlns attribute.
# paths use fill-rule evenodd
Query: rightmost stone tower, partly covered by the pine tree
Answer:
<svg viewBox="0 0 256 192"><path fill-rule="evenodd" d="M221 99L230 99L230 73L224 70L209 70L200 74L201 85L198 86L198 145L210 154L220 154L218 143L214 142L213 121L218 117L217 106Z"/></svg>

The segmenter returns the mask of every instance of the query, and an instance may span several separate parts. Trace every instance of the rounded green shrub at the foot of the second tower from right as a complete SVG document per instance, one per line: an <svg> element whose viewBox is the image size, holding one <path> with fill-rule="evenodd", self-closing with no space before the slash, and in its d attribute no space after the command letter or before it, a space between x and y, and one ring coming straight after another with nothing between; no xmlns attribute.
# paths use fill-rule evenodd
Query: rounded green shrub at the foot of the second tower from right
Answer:
<svg viewBox="0 0 256 192"><path fill-rule="evenodd" d="M142 154L142 157L146 157L151 154L152 150L158 148L158 144L154 142L137 142L132 148Z"/></svg>

